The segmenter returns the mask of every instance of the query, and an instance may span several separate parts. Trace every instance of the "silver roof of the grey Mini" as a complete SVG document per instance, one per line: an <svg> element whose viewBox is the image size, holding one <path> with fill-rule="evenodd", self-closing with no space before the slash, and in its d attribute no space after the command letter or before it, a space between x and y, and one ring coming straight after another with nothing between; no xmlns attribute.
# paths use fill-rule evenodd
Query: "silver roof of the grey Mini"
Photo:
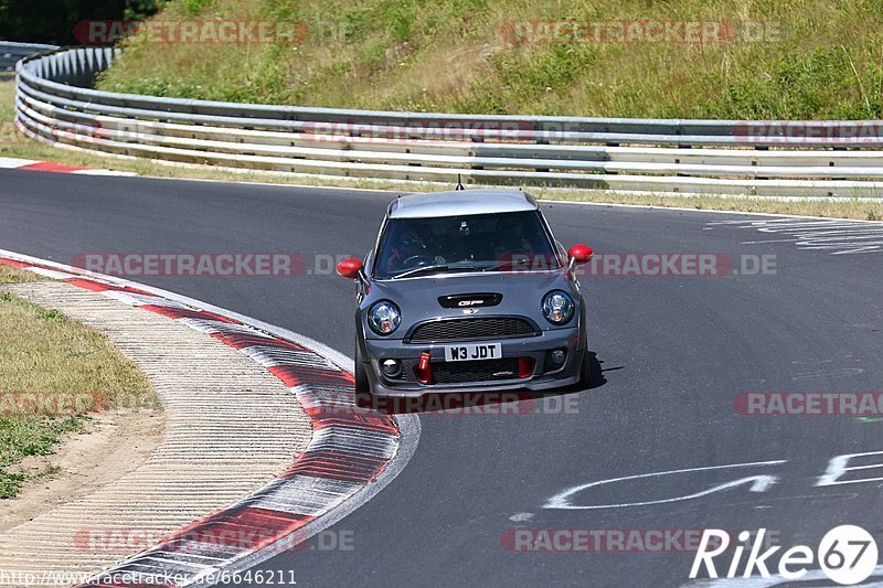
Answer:
<svg viewBox="0 0 883 588"><path fill-rule="evenodd" d="M468 214L535 211L536 201L518 190L456 190L400 196L390 204L390 218L435 218Z"/></svg>

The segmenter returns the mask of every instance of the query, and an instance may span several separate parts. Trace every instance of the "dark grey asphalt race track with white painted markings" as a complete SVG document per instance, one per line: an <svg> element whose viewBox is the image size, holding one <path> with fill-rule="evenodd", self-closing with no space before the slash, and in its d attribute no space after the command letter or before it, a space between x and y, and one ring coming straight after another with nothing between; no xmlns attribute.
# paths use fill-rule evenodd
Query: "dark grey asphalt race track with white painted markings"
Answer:
<svg viewBox="0 0 883 588"><path fill-rule="evenodd" d="M361 256L393 196L0 171L0 248L62 263L84 253L295 253L309 270L298 277L131 279L351 355L353 287L313 259ZM815 546L842 524L881 538L881 481L823 474L837 456L883 451L883 419L745 416L734 402L746 392L881 391L883 250L807 249L790 234L731 223L757 216L543 209L565 246L719 254L736 270L743 255L772 256L775 271L586 277L596 387L528 403L526 415L423 415L405 470L332 527L351 548L311 546L263 569L294 569L300 586L680 586L693 554L677 546L514 553L509 538L515 528L765 527L787 548ZM883 456L849 461L876 463ZM715 468L731 464L743 466ZM675 470L696 471L645 475ZM629 477L640 478L562 495ZM827 480L873 478L883 466ZM730 558L719 562L724 574Z"/></svg>

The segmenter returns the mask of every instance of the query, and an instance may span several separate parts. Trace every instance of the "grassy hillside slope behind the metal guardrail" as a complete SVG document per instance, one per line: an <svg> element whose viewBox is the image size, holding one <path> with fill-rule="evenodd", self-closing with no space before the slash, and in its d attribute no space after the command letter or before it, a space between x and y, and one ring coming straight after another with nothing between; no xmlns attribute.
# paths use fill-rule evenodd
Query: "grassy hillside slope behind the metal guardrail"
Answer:
<svg viewBox="0 0 883 588"><path fill-rule="evenodd" d="M298 21L309 33L251 44L135 35L102 89L475 114L766 120L883 113L883 4L869 0L171 0L153 17L215 19ZM677 32L653 40L641 34L648 21L673 31L720 26L692 40ZM630 26L621 36L610 33L623 22ZM581 23L582 34L566 23Z"/></svg>

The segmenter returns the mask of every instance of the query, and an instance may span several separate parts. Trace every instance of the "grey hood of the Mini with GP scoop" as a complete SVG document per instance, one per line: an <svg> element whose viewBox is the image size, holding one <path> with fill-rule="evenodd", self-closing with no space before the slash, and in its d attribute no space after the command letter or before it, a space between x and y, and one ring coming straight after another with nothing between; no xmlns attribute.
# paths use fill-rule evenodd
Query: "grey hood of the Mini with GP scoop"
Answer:
<svg viewBox="0 0 883 588"><path fill-rule="evenodd" d="M542 313L542 298L550 290L564 290L579 304L579 292L566 276L565 269L549 271L506 271L481 274L446 274L371 284L371 291L361 307L368 309L379 300L392 300L402 311L402 323L392 338L402 338L412 325L439 318L520 316L532 319L541 329L551 330ZM502 298L496 306L444 308L439 297L496 293ZM480 297L464 297L478 300ZM455 303L456 304L456 303ZM578 309L577 309L578 310ZM568 323L564 328L573 327ZM370 339L376 338L365 329Z"/></svg>

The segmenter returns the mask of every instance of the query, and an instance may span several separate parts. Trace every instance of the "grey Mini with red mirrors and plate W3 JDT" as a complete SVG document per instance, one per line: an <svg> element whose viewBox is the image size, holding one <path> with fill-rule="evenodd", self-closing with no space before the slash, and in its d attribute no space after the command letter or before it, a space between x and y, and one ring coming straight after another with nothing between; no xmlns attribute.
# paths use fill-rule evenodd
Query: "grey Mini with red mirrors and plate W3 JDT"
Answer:
<svg viewBox="0 0 883 588"><path fill-rule="evenodd" d="M357 284L355 392L542 391L587 385L586 308L566 252L519 191L394 200Z"/></svg>

